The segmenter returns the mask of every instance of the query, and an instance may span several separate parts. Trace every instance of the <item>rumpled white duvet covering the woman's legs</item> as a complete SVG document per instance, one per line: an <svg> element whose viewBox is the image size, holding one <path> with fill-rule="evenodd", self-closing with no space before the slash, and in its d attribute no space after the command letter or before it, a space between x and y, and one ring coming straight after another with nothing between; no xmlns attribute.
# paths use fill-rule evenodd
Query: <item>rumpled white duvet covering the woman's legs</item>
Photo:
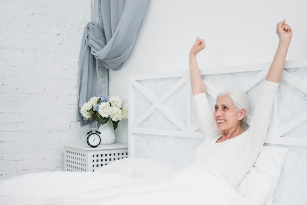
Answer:
<svg viewBox="0 0 307 205"><path fill-rule="evenodd" d="M188 165L150 181L108 172L45 172L0 181L0 205L255 205L214 170Z"/></svg>

